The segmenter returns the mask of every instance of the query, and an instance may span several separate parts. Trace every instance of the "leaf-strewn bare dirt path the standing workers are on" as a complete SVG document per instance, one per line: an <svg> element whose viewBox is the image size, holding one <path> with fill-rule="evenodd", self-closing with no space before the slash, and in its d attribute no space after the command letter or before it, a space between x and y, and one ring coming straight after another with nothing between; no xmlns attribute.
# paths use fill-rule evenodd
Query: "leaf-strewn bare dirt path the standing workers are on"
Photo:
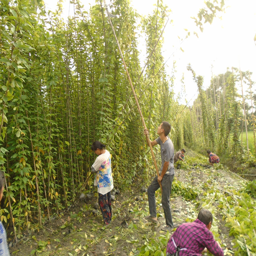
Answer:
<svg viewBox="0 0 256 256"><path fill-rule="evenodd" d="M194 161L193 154L190 152L190 156L187 156L188 161ZM204 163L204 159L202 162ZM141 246L151 239L160 239L162 243L159 247L163 249L167 239L166 233L160 230L165 224L160 191L156 193L159 222L153 224L144 219L148 215L147 194L140 190L142 181L139 176L134 178L134 184L138 184L138 187L127 188L116 195L115 201L112 202L113 219L110 225L104 225L99 210L96 214L92 212L92 205L97 199L95 193L92 201L79 201L68 213L45 224L40 232L24 237L10 248L12 255L132 256L139 255ZM204 168L200 165L188 170L175 170L175 193L171 198L174 223L182 224L195 220L198 209L202 205L207 207L204 204L207 203L206 199L214 194L214 189L230 186L241 187L241 180L227 170ZM198 193L196 200L186 200L193 191ZM208 203L208 207L214 212L212 231L225 247L225 255L234 255L231 242L233 237L229 237L229 229L224 226L223 212L214 205L215 198L212 197L211 205Z"/></svg>

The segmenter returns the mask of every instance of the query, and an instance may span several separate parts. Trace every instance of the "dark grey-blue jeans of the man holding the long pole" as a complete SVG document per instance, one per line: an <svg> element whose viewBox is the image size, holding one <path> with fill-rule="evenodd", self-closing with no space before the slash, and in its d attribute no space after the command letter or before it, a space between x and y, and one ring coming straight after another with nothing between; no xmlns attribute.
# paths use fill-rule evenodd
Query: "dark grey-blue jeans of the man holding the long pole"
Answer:
<svg viewBox="0 0 256 256"><path fill-rule="evenodd" d="M165 174L161 181L162 184L162 207L163 212L165 213L165 221L166 225L169 225L173 228L172 222L172 213L170 209L170 195L172 191L172 181L174 178L174 174ZM147 197L148 197L148 206L150 210L150 215L152 217L156 217L156 198L155 191L160 187L157 182L157 176L155 176L151 185L147 188Z"/></svg>

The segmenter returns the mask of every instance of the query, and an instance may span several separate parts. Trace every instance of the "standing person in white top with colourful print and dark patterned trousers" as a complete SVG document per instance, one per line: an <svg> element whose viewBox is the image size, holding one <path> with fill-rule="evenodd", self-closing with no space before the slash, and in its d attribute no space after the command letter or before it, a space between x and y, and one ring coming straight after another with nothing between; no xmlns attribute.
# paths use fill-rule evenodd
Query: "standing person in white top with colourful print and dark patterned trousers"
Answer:
<svg viewBox="0 0 256 256"><path fill-rule="evenodd" d="M104 147L105 145L99 141L95 141L91 145L91 149L98 155L91 166L91 172L95 173L94 185L98 187L100 210L104 223L108 225L112 218L110 191L114 188L114 185L111 171L111 156Z"/></svg>

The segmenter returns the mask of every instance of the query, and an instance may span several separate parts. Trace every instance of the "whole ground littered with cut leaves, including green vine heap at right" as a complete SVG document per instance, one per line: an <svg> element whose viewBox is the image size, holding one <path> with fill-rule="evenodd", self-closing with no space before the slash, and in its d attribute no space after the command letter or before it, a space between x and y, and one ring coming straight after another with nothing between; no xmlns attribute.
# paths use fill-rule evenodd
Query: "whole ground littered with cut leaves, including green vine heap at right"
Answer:
<svg viewBox="0 0 256 256"><path fill-rule="evenodd" d="M171 234L160 230L165 224L161 191L156 193L158 224L153 224L144 218L148 215L148 202L147 194L141 191L142 184L142 176L137 175L133 186L116 195L110 225L103 223L99 209L93 214L97 200L94 193L90 202L79 201L69 212L45 224L40 232L12 246L12 255L165 255ZM247 250L255 255L255 236L247 230L250 228L253 234L255 229L255 199L248 199L245 187L246 182L227 168L208 167L206 157L188 150L186 162L181 169L175 169L170 200L174 223L194 221L201 207L208 208L214 215L212 232L224 255L246 255ZM243 197L251 202L253 211L243 208ZM242 214L237 216L237 211Z"/></svg>

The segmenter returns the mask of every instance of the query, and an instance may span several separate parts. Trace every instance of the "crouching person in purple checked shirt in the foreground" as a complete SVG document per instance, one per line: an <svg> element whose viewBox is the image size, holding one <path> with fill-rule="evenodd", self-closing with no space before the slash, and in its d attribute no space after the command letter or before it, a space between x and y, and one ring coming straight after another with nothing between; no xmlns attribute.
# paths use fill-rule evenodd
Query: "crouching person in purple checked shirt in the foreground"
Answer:
<svg viewBox="0 0 256 256"><path fill-rule="evenodd" d="M207 252L215 256L224 256L223 249L214 240L212 213L202 208L194 222L183 223L177 227L167 243L167 256L201 256Z"/></svg>

